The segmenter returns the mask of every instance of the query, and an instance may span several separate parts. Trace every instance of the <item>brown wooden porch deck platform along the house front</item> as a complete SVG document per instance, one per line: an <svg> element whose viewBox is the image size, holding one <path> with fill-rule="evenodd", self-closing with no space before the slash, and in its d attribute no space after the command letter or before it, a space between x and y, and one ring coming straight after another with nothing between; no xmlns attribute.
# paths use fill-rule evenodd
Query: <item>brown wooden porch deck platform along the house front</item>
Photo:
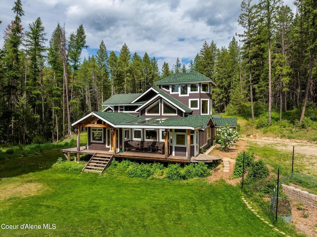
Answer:
<svg viewBox="0 0 317 237"><path fill-rule="evenodd" d="M107 154L107 155L113 154L113 151L86 149L85 146L81 146L79 151L77 151L77 147L61 149L60 151L64 153L65 157L68 160L70 160L70 153L89 154L89 155L93 155L95 153ZM190 163L190 160L188 160L187 157L184 157L184 156L171 156L170 155L167 157L167 159L165 159L165 155L162 155L160 153L139 151L139 150L138 151L118 152L114 155L114 158Z"/></svg>

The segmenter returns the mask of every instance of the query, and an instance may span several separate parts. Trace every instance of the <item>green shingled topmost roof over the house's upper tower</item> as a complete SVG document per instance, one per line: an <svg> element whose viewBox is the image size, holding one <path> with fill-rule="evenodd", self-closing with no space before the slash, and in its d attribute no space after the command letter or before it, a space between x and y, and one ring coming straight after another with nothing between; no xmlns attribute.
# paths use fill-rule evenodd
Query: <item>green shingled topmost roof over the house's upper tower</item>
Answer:
<svg viewBox="0 0 317 237"><path fill-rule="evenodd" d="M216 86L216 84L210 78L204 76L199 72L175 73L157 81L155 85L170 85L194 82L211 82L213 86Z"/></svg>

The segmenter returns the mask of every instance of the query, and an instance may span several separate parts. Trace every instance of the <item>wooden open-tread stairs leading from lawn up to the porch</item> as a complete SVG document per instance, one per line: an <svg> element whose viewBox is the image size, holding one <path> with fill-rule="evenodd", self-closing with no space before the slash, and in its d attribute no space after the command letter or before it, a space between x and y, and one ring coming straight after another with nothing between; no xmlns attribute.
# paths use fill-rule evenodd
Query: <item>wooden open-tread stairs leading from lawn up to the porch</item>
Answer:
<svg viewBox="0 0 317 237"><path fill-rule="evenodd" d="M81 171L81 173L92 172L102 174L105 169L108 168L108 166L111 164L112 160L113 155L95 153L88 161L84 169Z"/></svg>

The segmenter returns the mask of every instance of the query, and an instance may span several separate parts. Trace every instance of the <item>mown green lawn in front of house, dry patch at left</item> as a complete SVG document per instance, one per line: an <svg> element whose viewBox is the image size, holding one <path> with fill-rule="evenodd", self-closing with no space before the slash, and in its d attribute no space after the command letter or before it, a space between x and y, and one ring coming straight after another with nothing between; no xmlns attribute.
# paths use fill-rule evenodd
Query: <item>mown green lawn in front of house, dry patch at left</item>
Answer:
<svg viewBox="0 0 317 237"><path fill-rule="evenodd" d="M224 182L127 178L114 166L101 176L51 168L7 177L0 180L0 224L18 228L0 228L4 237L282 236Z"/></svg>

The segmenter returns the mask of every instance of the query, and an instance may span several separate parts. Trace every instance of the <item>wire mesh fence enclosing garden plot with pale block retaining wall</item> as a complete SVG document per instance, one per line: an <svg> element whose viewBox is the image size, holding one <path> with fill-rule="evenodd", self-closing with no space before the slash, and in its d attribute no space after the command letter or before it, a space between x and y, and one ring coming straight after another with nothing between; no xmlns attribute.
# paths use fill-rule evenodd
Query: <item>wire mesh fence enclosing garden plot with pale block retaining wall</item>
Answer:
<svg viewBox="0 0 317 237"><path fill-rule="evenodd" d="M300 172L280 176L270 200L275 223L292 222L299 232L317 236L317 178Z"/></svg>

